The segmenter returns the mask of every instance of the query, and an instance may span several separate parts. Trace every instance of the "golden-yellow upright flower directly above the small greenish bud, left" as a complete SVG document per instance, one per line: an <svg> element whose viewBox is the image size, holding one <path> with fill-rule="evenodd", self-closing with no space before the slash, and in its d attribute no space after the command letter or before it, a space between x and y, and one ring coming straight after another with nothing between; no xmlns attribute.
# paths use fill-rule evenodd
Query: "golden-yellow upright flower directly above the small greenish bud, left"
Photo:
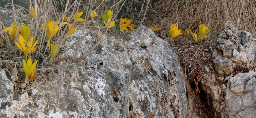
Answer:
<svg viewBox="0 0 256 118"><path fill-rule="evenodd" d="M47 27L45 28L45 30L46 29L48 30L48 32L46 33L46 38L47 38L47 41L49 41L59 31L60 27L58 26L58 24L54 25L54 20L53 20L53 21L47 22Z"/></svg>

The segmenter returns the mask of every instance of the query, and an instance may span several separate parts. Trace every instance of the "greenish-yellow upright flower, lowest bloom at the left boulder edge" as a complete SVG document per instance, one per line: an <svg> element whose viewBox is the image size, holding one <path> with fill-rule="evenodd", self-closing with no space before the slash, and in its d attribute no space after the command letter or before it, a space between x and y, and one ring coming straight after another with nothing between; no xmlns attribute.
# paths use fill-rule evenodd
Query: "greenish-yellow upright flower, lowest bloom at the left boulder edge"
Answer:
<svg viewBox="0 0 256 118"><path fill-rule="evenodd" d="M28 76L36 69L36 64L37 64L37 60L32 64L31 57L28 59L27 62L25 61L25 59L23 59L22 66L26 75L25 85L27 85Z"/></svg>

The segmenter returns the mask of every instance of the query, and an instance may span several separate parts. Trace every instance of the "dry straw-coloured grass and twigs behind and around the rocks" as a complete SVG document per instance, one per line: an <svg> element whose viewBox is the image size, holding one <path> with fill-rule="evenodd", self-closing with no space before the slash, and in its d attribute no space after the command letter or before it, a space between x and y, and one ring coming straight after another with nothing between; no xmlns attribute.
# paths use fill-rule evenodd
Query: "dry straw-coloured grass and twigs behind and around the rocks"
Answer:
<svg viewBox="0 0 256 118"><path fill-rule="evenodd" d="M194 44L193 41L189 40L190 37L185 39L182 38L181 35L174 38L170 43L179 57L180 65L190 79L196 77L196 74L193 75L191 73L191 68L195 70L196 73L200 72L198 70L205 66L200 63L204 63L210 68L212 67L209 62L210 52L207 49L209 46L211 47L210 43L217 39L215 35L220 32L226 21L230 20L239 30L248 31L254 37L256 36L256 0L69 0L69 2L66 0L46 0L39 1L39 3L28 0L28 4L28 8L13 5L12 7L14 9L10 11L19 15L23 19L24 24L30 25L31 31L34 31L34 39L41 39L38 43L37 51L29 55L29 57L33 57L34 60L39 60L36 68L38 79L34 83L40 84L49 82L58 83L56 76L60 74L58 73L60 69L70 71L77 69L60 67L58 66L58 62L62 60L72 60L73 62L82 61L92 50L98 48L97 46L101 41L101 35L96 35L99 40L96 41L95 46L85 52L79 59L74 59L73 57L58 59L61 54L66 52L60 51L58 55L56 54L57 57L55 59L49 61L49 51L46 49L46 34L39 27L50 19L63 22L63 17L60 16L59 12L67 16L73 16L76 12L83 11L84 15L82 17L85 19L85 22L72 21L72 25L79 26L83 29L88 28L89 33L100 32L100 34L114 35L121 38L124 37L124 35L119 33L118 30L111 29L111 32L107 32L108 30L102 29L104 26L102 26L100 17L109 9L114 12L112 18L116 20L116 23L118 23L118 19L124 17L133 19L134 24L137 25L150 27L152 24L156 24L158 27L163 28L156 32L156 35L163 39L168 37L169 27L172 23L177 24L182 32L184 32L186 28L195 31L201 23L206 24L211 30L207 34L207 39L210 41ZM31 16L28 15L32 7L37 9L35 19L32 19ZM91 21L89 20L89 13L93 10L97 11L100 16L98 19L96 18L94 21ZM53 38L54 43L63 45L68 35L67 29L68 26L66 25L58 31L58 35ZM22 57L24 57L24 54L17 47L13 48L11 42L5 38L6 36L4 34L0 34L0 36L4 38L6 44L0 49L1 67L8 73L7 75L10 78L14 76L15 81L13 82L16 85L15 89L17 92L20 92L22 91L20 84L24 81L22 78L25 78L22 71ZM82 38L81 36L76 43L79 44ZM61 46L59 46L59 49L60 48ZM122 48L120 48L119 51L121 50ZM117 51L117 53L119 51ZM104 60L94 63L94 65L103 61ZM197 65L197 67L191 67L189 65ZM17 68L17 70L14 68ZM61 83L61 81L59 81L59 83ZM26 90L33 88L32 85L33 84L30 83ZM198 105L202 106L200 108L204 108L206 111L203 113L200 109L198 110L200 113L197 112L198 114L204 114L204 117L213 116L211 114L212 111L206 109L207 106L203 105L202 101L199 101Z"/></svg>

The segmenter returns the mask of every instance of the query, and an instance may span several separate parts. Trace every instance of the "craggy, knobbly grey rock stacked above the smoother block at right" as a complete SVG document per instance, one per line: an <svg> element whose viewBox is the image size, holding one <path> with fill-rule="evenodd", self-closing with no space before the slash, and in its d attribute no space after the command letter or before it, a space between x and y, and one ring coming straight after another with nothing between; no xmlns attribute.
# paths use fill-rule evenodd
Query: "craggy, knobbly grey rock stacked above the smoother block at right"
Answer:
<svg viewBox="0 0 256 118"><path fill-rule="evenodd" d="M231 21L227 21L212 53L215 71L219 75L228 75L236 64L255 63L255 47L256 39L251 33L237 30Z"/></svg>

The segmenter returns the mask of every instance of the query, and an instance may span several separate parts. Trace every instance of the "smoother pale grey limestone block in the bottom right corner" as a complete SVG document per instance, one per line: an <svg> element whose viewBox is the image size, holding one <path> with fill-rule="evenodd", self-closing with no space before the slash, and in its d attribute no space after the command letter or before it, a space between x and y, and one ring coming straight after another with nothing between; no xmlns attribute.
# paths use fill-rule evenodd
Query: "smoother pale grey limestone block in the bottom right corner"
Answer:
<svg viewBox="0 0 256 118"><path fill-rule="evenodd" d="M256 116L256 72L238 73L231 77L226 90L223 118L254 118ZM230 89L229 89L230 88Z"/></svg>

